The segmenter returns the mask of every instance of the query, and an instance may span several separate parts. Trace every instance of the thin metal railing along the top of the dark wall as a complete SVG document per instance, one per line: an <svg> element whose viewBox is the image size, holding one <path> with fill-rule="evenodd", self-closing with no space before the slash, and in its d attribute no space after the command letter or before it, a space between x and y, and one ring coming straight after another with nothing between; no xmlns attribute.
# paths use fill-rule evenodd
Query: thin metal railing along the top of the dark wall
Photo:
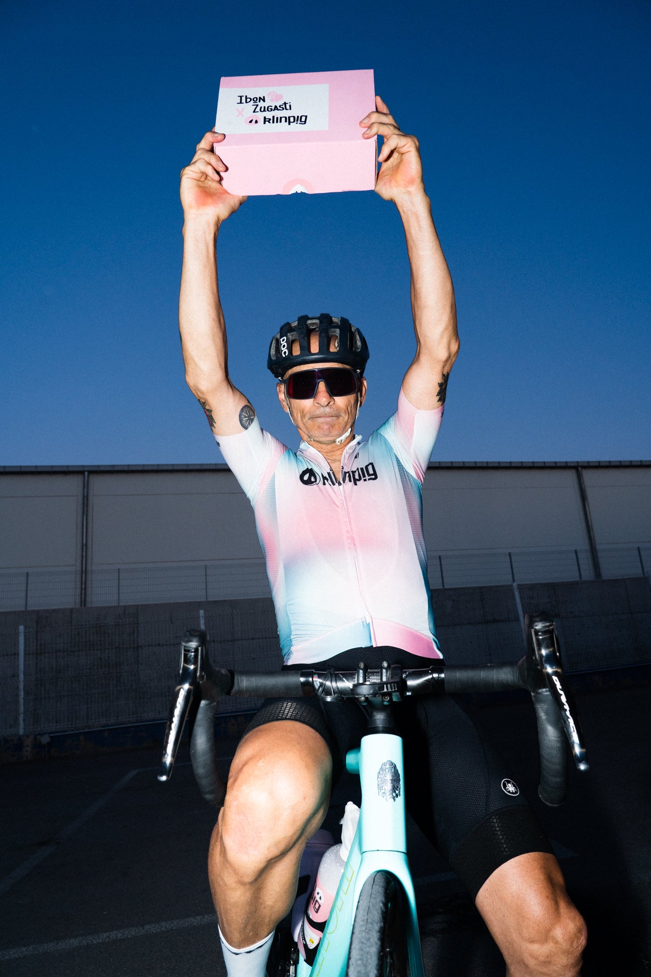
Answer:
<svg viewBox="0 0 651 977"><path fill-rule="evenodd" d="M644 576L651 573L651 543L602 547L598 559L604 579ZM431 552L427 562L432 589L591 580L597 575L589 549ZM79 574L71 570L0 573L0 611L78 607L80 594ZM269 596L262 558L93 570L86 587L88 607Z"/></svg>

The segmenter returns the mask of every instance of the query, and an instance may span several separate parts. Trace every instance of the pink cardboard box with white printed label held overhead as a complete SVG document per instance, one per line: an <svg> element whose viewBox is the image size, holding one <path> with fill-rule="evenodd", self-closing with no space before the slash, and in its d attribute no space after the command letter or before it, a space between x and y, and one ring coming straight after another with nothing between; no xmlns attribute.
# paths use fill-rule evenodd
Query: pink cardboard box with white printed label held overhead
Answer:
<svg viewBox="0 0 651 977"><path fill-rule="evenodd" d="M222 78L215 128L225 133L231 193L373 190L376 139L359 120L375 109L373 71Z"/></svg>

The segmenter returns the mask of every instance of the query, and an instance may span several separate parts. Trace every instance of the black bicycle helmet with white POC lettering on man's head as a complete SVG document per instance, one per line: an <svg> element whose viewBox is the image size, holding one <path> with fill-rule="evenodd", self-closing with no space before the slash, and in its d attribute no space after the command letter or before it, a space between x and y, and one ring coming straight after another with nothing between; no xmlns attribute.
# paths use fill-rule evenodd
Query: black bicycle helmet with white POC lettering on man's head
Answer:
<svg viewBox="0 0 651 977"><path fill-rule="evenodd" d="M309 334L318 332L317 353L309 352ZM337 349L330 349L330 339L337 337ZM298 339L299 352L294 355L292 346ZM368 346L361 331L350 325L347 319L333 319L327 312L316 319L313 316L299 316L295 322L285 322L271 340L266 366L279 380L292 366L305 363L344 363L352 366L361 376L369 358Z"/></svg>

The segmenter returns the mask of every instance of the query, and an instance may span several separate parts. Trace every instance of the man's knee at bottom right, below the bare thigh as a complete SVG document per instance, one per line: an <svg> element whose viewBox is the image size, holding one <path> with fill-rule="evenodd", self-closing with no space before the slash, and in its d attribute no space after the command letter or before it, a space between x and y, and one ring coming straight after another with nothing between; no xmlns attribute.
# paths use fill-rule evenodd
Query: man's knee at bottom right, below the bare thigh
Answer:
<svg viewBox="0 0 651 977"><path fill-rule="evenodd" d="M583 916L569 901L558 908L554 918L521 947L523 973L549 977L575 977L581 973L588 930Z"/></svg>

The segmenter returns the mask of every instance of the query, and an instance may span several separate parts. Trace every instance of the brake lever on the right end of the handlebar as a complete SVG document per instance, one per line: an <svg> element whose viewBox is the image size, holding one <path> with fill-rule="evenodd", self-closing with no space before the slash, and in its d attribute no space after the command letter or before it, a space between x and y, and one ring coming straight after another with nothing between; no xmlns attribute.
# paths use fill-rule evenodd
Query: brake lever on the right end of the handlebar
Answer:
<svg viewBox="0 0 651 977"><path fill-rule="evenodd" d="M588 763L588 753L583 730L581 729L581 723L576 709L574 709L573 713L570 704L572 701L570 692L565 687L563 666L560 660L553 620L543 615L532 616L532 618L530 621L530 633L536 658L535 664L538 666L536 670L538 675L544 680L547 689L549 689L549 694L558 710L563 732L570 744L577 770L587 771L590 769L590 765ZM530 674L527 677L528 679L532 678ZM540 678L537 685L537 691L540 691ZM529 685L529 688L532 693L535 691L531 689L531 685Z"/></svg>

